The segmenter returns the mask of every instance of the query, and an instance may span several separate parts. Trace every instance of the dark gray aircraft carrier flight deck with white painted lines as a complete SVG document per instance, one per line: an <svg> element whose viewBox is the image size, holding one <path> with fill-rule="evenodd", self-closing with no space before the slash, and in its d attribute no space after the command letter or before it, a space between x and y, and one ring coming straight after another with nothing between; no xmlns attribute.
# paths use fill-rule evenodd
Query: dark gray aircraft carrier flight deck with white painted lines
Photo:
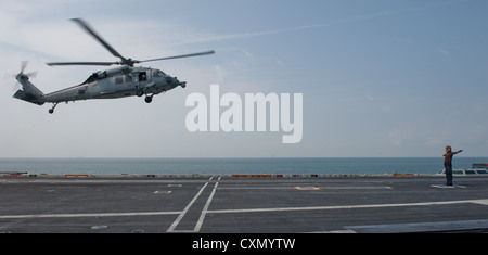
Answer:
<svg viewBox="0 0 488 255"><path fill-rule="evenodd" d="M487 232L488 178L0 177L3 233Z"/></svg>

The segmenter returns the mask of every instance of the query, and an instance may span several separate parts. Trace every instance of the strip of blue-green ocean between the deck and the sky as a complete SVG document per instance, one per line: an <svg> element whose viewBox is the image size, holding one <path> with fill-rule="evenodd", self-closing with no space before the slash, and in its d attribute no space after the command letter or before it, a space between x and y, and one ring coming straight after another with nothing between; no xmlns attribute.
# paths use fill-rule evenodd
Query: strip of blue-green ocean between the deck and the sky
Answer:
<svg viewBox="0 0 488 255"><path fill-rule="evenodd" d="M372 158L0 158L0 173L47 175L383 175L436 174L444 157ZM471 168L488 157L455 157Z"/></svg>

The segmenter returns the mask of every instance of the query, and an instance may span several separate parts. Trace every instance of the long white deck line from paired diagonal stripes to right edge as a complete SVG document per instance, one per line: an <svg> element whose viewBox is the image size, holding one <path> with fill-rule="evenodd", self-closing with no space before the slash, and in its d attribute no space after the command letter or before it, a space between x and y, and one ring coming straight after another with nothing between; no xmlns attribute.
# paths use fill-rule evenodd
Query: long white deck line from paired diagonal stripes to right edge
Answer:
<svg viewBox="0 0 488 255"><path fill-rule="evenodd" d="M460 200L444 202L421 202L404 204L367 204L367 205L332 205L332 206L308 206L308 207L278 207L278 208L248 208L248 209L211 209L210 214L234 214L234 213L267 213L267 212L293 212L293 211L321 211L321 209L354 209L354 208L383 208L383 207L406 207L425 205L449 205L475 203L488 205L488 200Z"/></svg>

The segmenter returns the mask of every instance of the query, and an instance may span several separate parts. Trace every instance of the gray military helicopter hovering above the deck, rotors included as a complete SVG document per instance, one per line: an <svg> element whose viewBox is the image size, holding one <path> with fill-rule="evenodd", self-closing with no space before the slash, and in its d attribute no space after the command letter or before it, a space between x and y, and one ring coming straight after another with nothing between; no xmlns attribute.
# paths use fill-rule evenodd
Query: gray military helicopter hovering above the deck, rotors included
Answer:
<svg viewBox="0 0 488 255"><path fill-rule="evenodd" d="M160 69L150 67L134 67L134 64L190 58L197 55L214 54L215 51L198 52L184 55L166 56L151 60L132 60L124 58L112 46L110 46L101 36L99 36L92 27L81 18L73 18L85 31L98 40L114 56L120 59L117 62L51 62L50 66L60 65L120 65L115 68L99 71L90 75L82 84L62 89L52 93L44 94L36 86L29 81L29 77L35 73L24 74L27 62L23 62L21 73L15 75L16 80L22 85L22 89L17 90L13 95L16 99L24 100L34 104L42 105L44 103L53 103L49 113L54 113L54 109L60 102L70 102L89 99L116 99L138 95L145 95L145 102L151 103L155 94L166 92L178 86L184 88L187 81L180 81L177 77L171 77Z"/></svg>

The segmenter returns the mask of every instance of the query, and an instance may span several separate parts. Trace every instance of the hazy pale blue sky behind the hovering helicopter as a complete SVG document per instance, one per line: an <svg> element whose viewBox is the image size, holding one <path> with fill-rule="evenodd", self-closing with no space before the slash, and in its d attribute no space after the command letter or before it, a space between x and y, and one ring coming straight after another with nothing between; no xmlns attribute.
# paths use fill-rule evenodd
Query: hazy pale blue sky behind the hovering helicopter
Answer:
<svg viewBox="0 0 488 255"><path fill-rule="evenodd" d="M188 82L143 98L34 105L0 80L0 157L488 156L485 0L0 0L0 75L37 71L44 93L117 61L70 18L82 17L126 58L160 61ZM191 93L301 93L303 138L282 131L191 132ZM209 98L208 98L209 99ZM244 109L244 107L243 107ZM226 107L221 106L221 112Z"/></svg>

